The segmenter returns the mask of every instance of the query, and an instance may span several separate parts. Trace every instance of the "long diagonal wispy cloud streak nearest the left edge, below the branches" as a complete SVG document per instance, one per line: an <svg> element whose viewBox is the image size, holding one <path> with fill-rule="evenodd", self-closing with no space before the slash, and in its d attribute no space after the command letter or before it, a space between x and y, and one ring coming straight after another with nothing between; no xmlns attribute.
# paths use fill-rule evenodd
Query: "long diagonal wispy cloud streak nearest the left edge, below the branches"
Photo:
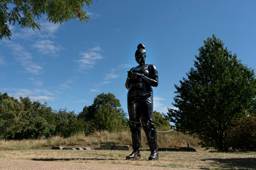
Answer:
<svg viewBox="0 0 256 170"><path fill-rule="evenodd" d="M8 44L7 46L12 49L12 53L15 55L16 60L21 63L27 72L36 75L43 73L43 68L40 65L32 62L31 53L26 52L22 45L12 43Z"/></svg>

